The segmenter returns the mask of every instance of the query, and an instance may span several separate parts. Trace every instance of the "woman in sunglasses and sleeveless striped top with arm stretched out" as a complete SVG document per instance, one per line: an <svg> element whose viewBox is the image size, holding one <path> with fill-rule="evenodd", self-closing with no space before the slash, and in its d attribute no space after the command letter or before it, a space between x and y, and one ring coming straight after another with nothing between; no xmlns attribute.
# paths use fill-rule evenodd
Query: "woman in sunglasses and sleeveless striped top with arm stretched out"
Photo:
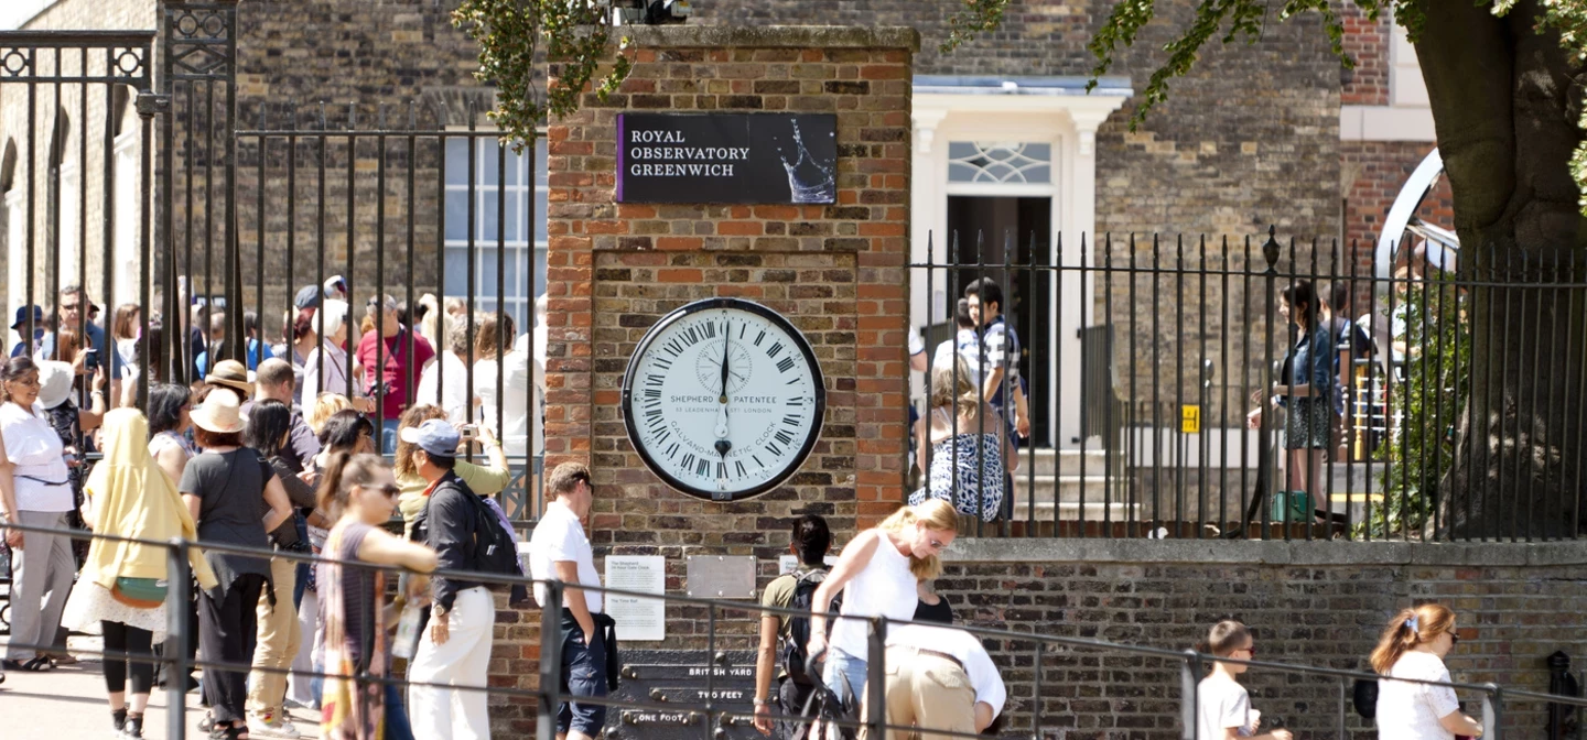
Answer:
<svg viewBox="0 0 1587 740"><path fill-rule="evenodd" d="M386 639L386 572L343 566L370 563L428 574L435 551L402 540L382 526L397 509L397 479L378 455L338 453L319 488L319 507L336 518L325 539L329 563L319 564L319 597L325 615L325 680L321 737L346 740L411 738L397 688L367 681L390 677ZM408 578L409 593L428 588Z"/></svg>

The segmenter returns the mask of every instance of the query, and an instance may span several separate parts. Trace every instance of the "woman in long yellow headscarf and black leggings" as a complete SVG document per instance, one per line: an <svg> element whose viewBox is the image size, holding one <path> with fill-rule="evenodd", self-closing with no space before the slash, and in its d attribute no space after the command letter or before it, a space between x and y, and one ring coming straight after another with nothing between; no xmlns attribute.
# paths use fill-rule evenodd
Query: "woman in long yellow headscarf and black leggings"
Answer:
<svg viewBox="0 0 1587 740"><path fill-rule="evenodd" d="M167 542L198 539L176 483L149 455L149 421L136 409L105 415L105 460L84 485L83 520L95 534ZM197 548L189 564L198 585L213 588L214 570ZM167 550L160 545L95 539L83 577L67 602L63 624L105 634L105 688L111 719L124 737L143 737L143 710L154 683L152 647L165 642ZM148 656L117 659L116 653ZM132 666L132 699L125 697Z"/></svg>

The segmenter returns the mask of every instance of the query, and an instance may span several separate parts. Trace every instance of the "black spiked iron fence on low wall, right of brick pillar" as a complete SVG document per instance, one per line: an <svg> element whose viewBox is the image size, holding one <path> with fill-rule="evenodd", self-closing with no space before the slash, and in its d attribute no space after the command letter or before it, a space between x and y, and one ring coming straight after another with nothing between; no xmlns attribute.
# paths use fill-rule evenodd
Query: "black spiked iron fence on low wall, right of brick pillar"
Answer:
<svg viewBox="0 0 1587 740"><path fill-rule="evenodd" d="M1014 235L1001 249L981 235L974 246L960 239L941 250L959 260L940 263L928 246L928 260L911 265L913 287L932 296L920 326L932 371L914 412L930 423L933 393L968 372L986 399L1024 391L1032 429L1014 433L1019 460L1003 461L1005 485L982 474L979 490L963 491L952 471L978 458L940 441L1000 425L960 429L940 417L930 439L917 428L919 486L932 488L935 464L932 494L966 501L962 510L1003 498L997 517L966 518L965 531L1577 536L1587 282L1574 254L1457 254L1408 241L1374 263L1357 246L1281 244L1271 230L1239 241L1082 238L1078 250L1035 236L1024 249ZM979 339L997 330L974 328L968 342L954 330L955 298L982 279L1001 288L1006 323L1022 339L1019 380L1003 371L1000 387L986 385L998 357ZM1330 385L1328 412L1289 398L1305 390L1282 388L1295 377L1297 342L1314 341L1290 320L1301 307L1285 296L1300 284L1316 296L1311 311L1339 303L1312 323L1333 347L1330 382L1297 383ZM957 368L943 361L954 349L965 360ZM1005 421L1020 415L1011 402L995 410ZM1295 428L1303 420L1327 429L1306 441ZM1311 448L1292 448L1303 442Z"/></svg>

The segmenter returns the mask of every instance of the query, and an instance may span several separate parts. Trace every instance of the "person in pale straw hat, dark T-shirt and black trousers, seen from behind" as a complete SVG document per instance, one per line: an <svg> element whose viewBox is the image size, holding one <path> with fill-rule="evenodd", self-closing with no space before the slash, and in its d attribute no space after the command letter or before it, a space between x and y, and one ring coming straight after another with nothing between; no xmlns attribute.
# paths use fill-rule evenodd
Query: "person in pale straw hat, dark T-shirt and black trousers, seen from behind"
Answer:
<svg viewBox="0 0 1587 740"><path fill-rule="evenodd" d="M260 460L259 452L243 447L241 401L235 393L216 388L203 406L192 410L192 421L203 453L187 463L178 490L198 523L198 539L268 550L265 532L292 515L292 502L270 463ZM270 510L260 520L263 504ZM219 585L198 596L198 645L206 659L244 669L205 669L206 726L214 740L241 740L248 737L246 666L254 658L259 634L256 607L260 594L267 599L276 594L267 558L211 551L208 559ZM279 597L290 599L292 594Z"/></svg>

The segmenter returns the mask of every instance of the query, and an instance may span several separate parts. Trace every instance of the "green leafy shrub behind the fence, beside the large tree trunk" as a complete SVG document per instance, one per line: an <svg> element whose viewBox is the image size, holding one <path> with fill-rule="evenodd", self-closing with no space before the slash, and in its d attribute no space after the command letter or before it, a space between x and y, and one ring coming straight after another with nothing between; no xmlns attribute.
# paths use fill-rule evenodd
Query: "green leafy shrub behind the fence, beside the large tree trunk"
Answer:
<svg viewBox="0 0 1587 740"><path fill-rule="evenodd" d="M1406 380L1390 383L1384 501L1357 524L1357 537L1424 531L1438 507L1438 485L1454 466L1455 429L1471 398L1468 306L1454 277L1433 271L1428 282L1411 284L1403 301L1404 330L1393 339L1409 347L1409 357ZM1401 414L1404 421L1397 425Z"/></svg>

